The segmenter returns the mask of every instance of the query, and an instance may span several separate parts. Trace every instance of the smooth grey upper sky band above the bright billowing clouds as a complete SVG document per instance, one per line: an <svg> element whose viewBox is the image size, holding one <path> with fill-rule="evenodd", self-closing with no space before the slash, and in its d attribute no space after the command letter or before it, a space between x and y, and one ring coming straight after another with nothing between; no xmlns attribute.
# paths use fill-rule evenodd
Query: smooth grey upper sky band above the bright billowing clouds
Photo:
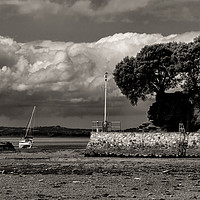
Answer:
<svg viewBox="0 0 200 200"><path fill-rule="evenodd" d="M121 32L199 31L199 0L1 0L0 35L93 42Z"/></svg>

